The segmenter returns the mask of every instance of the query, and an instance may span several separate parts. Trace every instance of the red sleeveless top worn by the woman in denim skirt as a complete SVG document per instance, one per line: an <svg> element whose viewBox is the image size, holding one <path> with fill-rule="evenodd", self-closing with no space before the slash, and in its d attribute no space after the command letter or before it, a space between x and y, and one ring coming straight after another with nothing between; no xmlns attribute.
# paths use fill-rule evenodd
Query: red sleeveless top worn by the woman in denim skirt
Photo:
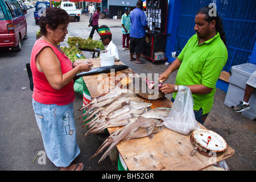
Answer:
<svg viewBox="0 0 256 182"><path fill-rule="evenodd" d="M65 85L60 90L52 88L49 84L44 73L39 72L36 68L35 58L36 55L44 48L51 47L53 52L60 60L62 73L67 73L73 69L71 60L65 56L64 53L60 52L56 47L47 43L45 40L36 40L35 45L32 49L30 67L33 75L34 92L32 97L35 101L41 104L56 104L56 105L67 105L75 100L75 91L73 88L73 80Z"/></svg>

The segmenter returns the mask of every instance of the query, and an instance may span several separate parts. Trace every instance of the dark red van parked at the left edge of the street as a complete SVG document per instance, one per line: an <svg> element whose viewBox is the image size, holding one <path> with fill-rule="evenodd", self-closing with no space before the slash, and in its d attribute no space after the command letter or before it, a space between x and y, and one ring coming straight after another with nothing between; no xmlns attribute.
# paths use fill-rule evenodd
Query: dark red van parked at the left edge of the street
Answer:
<svg viewBox="0 0 256 182"><path fill-rule="evenodd" d="M27 20L22 7L14 0L0 0L0 48L21 51L27 39Z"/></svg>

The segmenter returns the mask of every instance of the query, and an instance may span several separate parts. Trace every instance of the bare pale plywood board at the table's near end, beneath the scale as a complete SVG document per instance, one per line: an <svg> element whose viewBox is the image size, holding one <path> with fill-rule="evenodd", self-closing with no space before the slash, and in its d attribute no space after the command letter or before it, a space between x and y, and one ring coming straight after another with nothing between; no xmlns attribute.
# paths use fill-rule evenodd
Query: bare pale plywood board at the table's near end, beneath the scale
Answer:
<svg viewBox="0 0 256 182"><path fill-rule="evenodd" d="M202 170L234 155L234 150L228 146L218 157L209 158L199 152L191 156L195 148L189 140L191 134L181 135L165 128L151 140L148 137L125 140L119 142L117 148L130 171Z"/></svg>

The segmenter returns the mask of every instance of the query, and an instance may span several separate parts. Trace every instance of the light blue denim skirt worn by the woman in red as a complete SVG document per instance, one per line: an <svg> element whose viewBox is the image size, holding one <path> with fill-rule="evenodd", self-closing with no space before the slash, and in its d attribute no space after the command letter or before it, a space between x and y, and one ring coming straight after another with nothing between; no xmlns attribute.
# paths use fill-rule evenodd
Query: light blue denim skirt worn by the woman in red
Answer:
<svg viewBox="0 0 256 182"><path fill-rule="evenodd" d="M33 98L32 104L47 157L57 167L68 167L80 154L73 102L64 106L46 105Z"/></svg>

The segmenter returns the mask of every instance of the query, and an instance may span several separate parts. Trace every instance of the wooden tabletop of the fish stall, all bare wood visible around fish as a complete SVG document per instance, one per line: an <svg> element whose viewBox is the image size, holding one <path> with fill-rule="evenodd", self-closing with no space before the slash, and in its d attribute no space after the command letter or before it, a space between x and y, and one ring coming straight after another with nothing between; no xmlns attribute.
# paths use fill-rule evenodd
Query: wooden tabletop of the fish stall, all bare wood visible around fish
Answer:
<svg viewBox="0 0 256 182"><path fill-rule="evenodd" d="M91 60L94 67L99 66L99 59L86 59ZM115 64L122 64L121 61ZM119 73L134 73L131 69L126 71L119 71L115 73L117 76ZM102 93L96 90L97 86L103 86L106 88L114 88L118 83L118 77L112 77L105 80L98 78L98 75L84 76L84 81L88 90L95 98L100 96ZM98 81L97 81L98 80ZM105 88L103 88L105 90ZM171 107L172 102L167 98L160 100L148 101L143 99L145 102L152 103L151 109L155 107ZM199 123L201 128L205 128ZM109 128L109 133L112 133L116 128ZM228 146L225 152L215 157L208 157L196 152L195 155L191 156L190 153L195 146L190 141L190 136L181 135L175 131L165 128L159 133L155 134L152 139L148 137L123 140L117 144L119 154L122 156L129 170L202 170L209 166L212 166L216 162L228 159L234 155L234 149Z"/></svg>

